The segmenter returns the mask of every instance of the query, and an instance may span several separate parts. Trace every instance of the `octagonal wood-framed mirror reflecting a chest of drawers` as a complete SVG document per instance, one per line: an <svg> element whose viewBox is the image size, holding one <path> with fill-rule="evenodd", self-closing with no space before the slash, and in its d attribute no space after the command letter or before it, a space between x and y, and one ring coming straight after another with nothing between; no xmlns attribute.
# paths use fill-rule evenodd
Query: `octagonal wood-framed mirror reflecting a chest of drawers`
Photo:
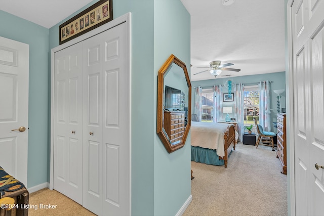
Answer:
<svg viewBox="0 0 324 216"><path fill-rule="evenodd" d="M186 64L171 55L158 71L156 133L169 153L182 148L191 125L191 83Z"/></svg>

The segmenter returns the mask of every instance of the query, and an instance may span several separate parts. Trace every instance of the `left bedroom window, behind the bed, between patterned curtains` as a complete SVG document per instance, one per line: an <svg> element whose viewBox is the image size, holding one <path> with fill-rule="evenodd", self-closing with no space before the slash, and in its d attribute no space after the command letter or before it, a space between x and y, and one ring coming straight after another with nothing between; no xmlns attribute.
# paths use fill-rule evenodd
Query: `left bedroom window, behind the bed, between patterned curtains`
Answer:
<svg viewBox="0 0 324 216"><path fill-rule="evenodd" d="M213 89L203 89L201 94L201 121L213 121Z"/></svg>

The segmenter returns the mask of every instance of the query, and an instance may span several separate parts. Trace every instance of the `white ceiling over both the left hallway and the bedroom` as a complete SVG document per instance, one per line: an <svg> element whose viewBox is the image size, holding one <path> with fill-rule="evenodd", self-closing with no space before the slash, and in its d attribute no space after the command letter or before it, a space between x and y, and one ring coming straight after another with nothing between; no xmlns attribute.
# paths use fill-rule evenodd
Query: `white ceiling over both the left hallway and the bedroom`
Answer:
<svg viewBox="0 0 324 216"><path fill-rule="evenodd" d="M191 15L191 80L214 79L209 62L233 63L240 72L216 78L285 71L285 12L282 0L181 0ZM231 0L225 0L231 1ZM0 10L51 28L91 0L0 0Z"/></svg>

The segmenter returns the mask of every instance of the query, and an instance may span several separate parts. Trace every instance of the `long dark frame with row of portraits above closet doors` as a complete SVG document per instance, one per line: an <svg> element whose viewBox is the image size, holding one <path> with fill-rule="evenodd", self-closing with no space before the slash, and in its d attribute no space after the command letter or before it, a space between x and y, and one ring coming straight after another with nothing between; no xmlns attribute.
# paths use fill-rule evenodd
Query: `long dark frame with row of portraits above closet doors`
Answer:
<svg viewBox="0 0 324 216"><path fill-rule="evenodd" d="M112 0L100 0L59 26L59 44L62 45L112 19Z"/></svg>

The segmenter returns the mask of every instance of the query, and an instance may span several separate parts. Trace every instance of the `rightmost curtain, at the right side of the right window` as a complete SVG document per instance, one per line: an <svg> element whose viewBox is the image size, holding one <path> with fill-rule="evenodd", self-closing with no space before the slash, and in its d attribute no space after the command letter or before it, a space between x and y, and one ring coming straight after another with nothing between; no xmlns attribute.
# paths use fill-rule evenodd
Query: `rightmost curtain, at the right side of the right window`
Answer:
<svg viewBox="0 0 324 216"><path fill-rule="evenodd" d="M270 114L266 113L270 109L270 84L269 81L259 82L259 124L264 128L264 131L271 131Z"/></svg>

